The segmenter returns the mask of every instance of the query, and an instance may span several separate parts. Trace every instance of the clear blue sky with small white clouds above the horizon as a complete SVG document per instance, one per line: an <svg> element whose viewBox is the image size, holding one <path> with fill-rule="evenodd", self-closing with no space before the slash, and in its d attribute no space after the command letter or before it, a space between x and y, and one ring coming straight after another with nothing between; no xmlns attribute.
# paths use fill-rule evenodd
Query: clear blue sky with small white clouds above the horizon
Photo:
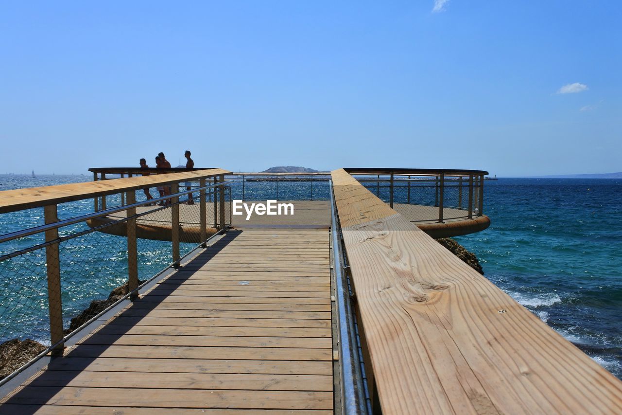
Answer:
<svg viewBox="0 0 622 415"><path fill-rule="evenodd" d="M620 1L2 2L2 166L622 171ZM564 93L562 93L564 92Z"/></svg>

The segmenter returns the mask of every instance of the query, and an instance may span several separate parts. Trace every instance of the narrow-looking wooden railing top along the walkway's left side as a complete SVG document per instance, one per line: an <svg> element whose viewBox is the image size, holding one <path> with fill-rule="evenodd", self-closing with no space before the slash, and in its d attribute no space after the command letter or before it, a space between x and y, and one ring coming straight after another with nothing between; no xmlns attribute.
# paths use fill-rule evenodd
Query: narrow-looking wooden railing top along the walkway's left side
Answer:
<svg viewBox="0 0 622 415"><path fill-rule="evenodd" d="M181 180L198 180L231 171L215 168L183 173L152 174L124 179L90 181L84 183L58 184L40 188L26 188L0 191L0 213L21 211L50 204L66 203L82 199L96 198L121 192L128 192L147 186L160 186Z"/></svg>

